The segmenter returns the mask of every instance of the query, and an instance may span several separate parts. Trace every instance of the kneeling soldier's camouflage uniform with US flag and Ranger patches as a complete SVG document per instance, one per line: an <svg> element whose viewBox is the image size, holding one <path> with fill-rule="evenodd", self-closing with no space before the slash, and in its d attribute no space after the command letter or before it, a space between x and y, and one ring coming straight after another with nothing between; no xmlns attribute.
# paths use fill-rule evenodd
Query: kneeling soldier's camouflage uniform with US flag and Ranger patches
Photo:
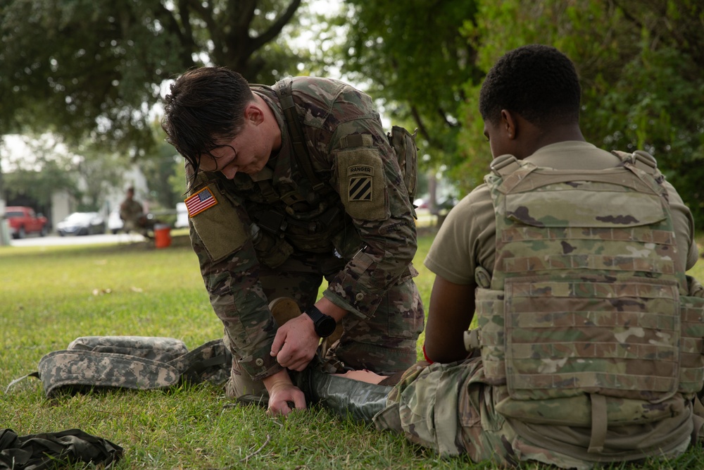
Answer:
<svg viewBox="0 0 704 470"><path fill-rule="evenodd" d="M275 114L279 153L257 175L201 172L189 192L217 200L191 216L191 242L237 358L233 376L260 381L282 369L269 354L277 325L268 302L293 297L304 310L323 278L323 295L350 312L331 354L358 369L406 369L425 319L411 264L415 221L370 97L336 80L293 79L310 164L325 183L313 188L277 95L252 89Z"/></svg>

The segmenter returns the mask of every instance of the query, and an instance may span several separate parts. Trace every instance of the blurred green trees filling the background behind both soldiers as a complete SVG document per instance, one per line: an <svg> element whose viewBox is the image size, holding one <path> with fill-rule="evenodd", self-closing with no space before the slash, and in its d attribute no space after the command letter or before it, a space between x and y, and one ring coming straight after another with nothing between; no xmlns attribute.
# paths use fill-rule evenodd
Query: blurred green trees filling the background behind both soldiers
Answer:
<svg viewBox="0 0 704 470"><path fill-rule="evenodd" d="M0 0L0 41L0 135L54 142L13 184L71 190L76 172L112 184L138 163L165 206L184 187L160 103L188 68L348 80L418 128L423 190L442 177L461 197L491 161L486 71L509 49L552 44L577 66L587 140L655 155L704 227L700 0ZM73 156L47 155L59 144Z"/></svg>

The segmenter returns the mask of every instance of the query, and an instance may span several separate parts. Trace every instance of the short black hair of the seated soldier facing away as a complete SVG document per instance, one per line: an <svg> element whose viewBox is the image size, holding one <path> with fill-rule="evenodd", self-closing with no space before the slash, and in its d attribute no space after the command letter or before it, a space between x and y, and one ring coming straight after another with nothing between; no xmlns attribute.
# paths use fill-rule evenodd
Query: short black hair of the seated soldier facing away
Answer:
<svg viewBox="0 0 704 470"><path fill-rule="evenodd" d="M479 92L479 113L493 124L502 109L539 128L577 123L581 92L577 70L565 54L530 44L509 51L489 70Z"/></svg>

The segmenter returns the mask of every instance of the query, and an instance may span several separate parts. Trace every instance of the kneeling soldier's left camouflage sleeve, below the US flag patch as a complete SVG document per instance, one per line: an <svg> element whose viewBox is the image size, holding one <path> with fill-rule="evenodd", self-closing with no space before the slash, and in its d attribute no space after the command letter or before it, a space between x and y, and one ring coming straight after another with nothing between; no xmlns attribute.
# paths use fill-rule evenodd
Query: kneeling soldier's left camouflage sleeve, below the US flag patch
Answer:
<svg viewBox="0 0 704 470"><path fill-rule="evenodd" d="M191 245L198 256L210 304L225 326L228 348L241 357L242 369L258 381L282 370L270 355L276 335L275 321L259 283L259 262L251 237L244 231L249 218L232 194L222 199L220 204L228 204L227 210L234 210L234 217L218 217L218 223L227 226L205 225L201 235L218 236L224 231L227 235L220 239L233 241L239 247L224 247L230 253L224 257L209 253L196 226L203 223L199 216L191 218ZM213 245L209 246L212 250ZM232 252L233 248L236 251Z"/></svg>

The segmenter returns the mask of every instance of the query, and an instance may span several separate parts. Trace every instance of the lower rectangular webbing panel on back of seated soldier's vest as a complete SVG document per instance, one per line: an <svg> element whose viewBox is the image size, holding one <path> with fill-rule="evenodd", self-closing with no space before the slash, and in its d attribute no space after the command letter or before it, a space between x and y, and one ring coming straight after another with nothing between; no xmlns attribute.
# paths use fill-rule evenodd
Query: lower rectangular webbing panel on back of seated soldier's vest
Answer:
<svg viewBox="0 0 704 470"><path fill-rule="evenodd" d="M517 400L677 392L677 284L509 279L506 377ZM657 312L657 313L650 313ZM658 398L659 397L659 398Z"/></svg>

